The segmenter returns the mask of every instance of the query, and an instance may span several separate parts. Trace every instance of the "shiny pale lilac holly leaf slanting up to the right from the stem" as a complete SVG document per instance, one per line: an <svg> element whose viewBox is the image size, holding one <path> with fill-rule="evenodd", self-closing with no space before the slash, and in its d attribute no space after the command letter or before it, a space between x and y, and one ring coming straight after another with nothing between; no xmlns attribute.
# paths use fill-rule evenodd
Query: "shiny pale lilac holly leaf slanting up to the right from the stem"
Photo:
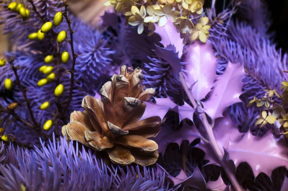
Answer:
<svg viewBox="0 0 288 191"><path fill-rule="evenodd" d="M245 71L242 64L228 63L226 70L217 77L215 88L210 97L202 102L204 112L212 119L223 117L224 110L237 102L241 102L239 96L242 94L242 77ZM197 85L197 83L195 84ZM194 88L193 88L194 89Z"/></svg>

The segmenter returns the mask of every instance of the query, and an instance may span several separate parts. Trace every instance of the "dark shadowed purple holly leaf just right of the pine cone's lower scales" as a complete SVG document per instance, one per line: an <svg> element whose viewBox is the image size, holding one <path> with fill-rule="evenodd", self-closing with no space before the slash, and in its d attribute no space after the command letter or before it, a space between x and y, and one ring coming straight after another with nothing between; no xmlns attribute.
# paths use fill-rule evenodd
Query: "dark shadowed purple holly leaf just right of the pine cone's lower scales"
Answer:
<svg viewBox="0 0 288 191"><path fill-rule="evenodd" d="M183 126L177 131L161 127L157 137L151 139L158 144L158 152L164 154L169 143L177 143L180 147L184 140L187 140L190 144L200 137L201 135L195 125L190 126L187 123L183 123Z"/></svg>

